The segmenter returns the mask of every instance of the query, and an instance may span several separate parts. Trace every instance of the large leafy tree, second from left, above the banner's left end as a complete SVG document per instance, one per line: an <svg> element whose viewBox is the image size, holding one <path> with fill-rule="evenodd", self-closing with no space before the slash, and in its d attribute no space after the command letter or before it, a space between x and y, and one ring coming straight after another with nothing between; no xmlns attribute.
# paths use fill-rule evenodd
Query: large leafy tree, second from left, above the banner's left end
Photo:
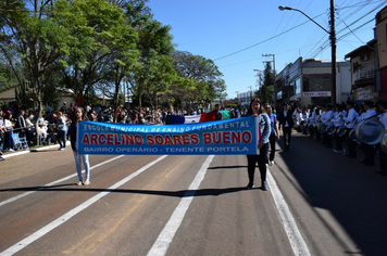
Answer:
<svg viewBox="0 0 387 256"><path fill-rule="evenodd" d="M60 23L73 36L68 53L57 63L66 87L87 99L97 84L120 85L138 55L137 33L124 10L104 0L61 0L59 10Z"/></svg>

